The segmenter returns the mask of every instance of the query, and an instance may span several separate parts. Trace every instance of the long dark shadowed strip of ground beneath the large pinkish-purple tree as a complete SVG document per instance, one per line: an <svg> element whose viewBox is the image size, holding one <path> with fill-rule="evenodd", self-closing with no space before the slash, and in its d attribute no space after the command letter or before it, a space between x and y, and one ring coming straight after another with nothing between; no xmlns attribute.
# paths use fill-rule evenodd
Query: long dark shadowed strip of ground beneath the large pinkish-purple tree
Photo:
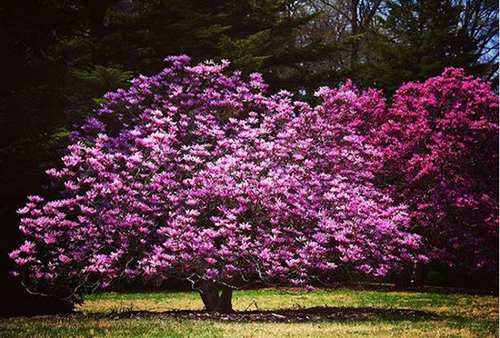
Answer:
<svg viewBox="0 0 500 338"><path fill-rule="evenodd" d="M113 319L195 319L230 322L309 322L309 321L366 321L366 320L426 320L439 318L432 313L409 309L376 309L372 307L328 307L283 309L276 311L245 311L235 313L207 313L205 311L167 311L154 313L148 311L125 311L118 313L83 314L93 318Z"/></svg>

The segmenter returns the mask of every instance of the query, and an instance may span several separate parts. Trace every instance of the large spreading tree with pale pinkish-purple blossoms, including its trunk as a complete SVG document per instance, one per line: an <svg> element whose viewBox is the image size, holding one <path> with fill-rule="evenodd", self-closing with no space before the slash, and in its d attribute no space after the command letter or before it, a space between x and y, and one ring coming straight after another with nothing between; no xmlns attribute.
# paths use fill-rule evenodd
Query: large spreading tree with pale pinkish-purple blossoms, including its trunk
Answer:
<svg viewBox="0 0 500 338"><path fill-rule="evenodd" d="M405 207L371 184L382 154L356 132L358 97L326 88L315 108L264 94L226 63L168 57L160 74L106 94L30 196L10 254L28 290L78 299L121 279L193 283L209 311L254 281L385 275L417 254ZM222 291L222 293L220 293Z"/></svg>

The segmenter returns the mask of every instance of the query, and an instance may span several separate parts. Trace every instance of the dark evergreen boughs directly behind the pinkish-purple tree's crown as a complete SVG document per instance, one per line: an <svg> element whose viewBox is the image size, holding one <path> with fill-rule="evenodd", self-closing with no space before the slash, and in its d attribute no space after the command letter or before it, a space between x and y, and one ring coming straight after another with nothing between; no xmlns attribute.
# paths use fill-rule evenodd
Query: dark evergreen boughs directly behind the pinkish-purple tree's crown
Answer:
<svg viewBox="0 0 500 338"><path fill-rule="evenodd" d="M119 0L105 2L105 15L93 14L92 2L74 3L85 34L69 36L60 47L70 69L70 105L84 111L95 108L93 98L124 87L131 74L159 72L165 55L191 55L196 62L229 59L244 75L264 73L272 91L315 87L318 79L309 78L305 63L336 48L300 41L302 28L316 15L300 1Z"/></svg>

